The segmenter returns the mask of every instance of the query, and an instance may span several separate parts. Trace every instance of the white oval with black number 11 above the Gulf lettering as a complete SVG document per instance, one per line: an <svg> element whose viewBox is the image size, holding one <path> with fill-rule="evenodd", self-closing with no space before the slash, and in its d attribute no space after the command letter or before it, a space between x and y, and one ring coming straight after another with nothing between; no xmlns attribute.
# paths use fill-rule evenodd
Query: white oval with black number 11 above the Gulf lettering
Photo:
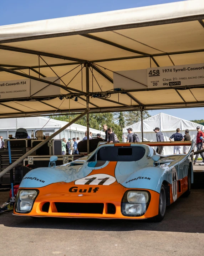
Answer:
<svg viewBox="0 0 204 256"><path fill-rule="evenodd" d="M116 178L104 174L104 173L98 173L86 176L82 179L75 180L76 185L111 185L116 181Z"/></svg>

